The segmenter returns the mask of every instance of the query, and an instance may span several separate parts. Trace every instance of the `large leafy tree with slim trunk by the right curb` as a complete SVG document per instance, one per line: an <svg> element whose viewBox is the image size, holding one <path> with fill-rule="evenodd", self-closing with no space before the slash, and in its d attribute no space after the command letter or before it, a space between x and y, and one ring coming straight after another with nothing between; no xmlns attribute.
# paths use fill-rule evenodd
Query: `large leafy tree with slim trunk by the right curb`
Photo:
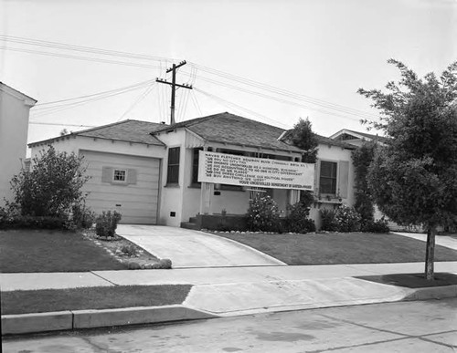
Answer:
<svg viewBox="0 0 457 353"><path fill-rule="evenodd" d="M439 78L417 74L403 63L398 83L358 92L381 112L373 125L390 138L379 147L368 171L377 205L397 223L427 230L425 275L433 279L437 226L457 221L457 62Z"/></svg>

